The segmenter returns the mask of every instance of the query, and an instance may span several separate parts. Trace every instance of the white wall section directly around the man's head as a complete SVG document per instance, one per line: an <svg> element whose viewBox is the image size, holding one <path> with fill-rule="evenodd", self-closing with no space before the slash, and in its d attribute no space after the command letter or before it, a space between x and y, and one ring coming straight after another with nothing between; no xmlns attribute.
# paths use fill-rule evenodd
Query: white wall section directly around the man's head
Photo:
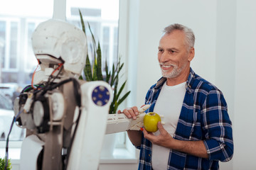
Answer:
<svg viewBox="0 0 256 170"><path fill-rule="evenodd" d="M162 30L171 23L181 23L193 28L196 35L193 69L210 81L215 81L215 1L141 0L139 6L138 105L144 102L146 91L161 76L157 47Z"/></svg>

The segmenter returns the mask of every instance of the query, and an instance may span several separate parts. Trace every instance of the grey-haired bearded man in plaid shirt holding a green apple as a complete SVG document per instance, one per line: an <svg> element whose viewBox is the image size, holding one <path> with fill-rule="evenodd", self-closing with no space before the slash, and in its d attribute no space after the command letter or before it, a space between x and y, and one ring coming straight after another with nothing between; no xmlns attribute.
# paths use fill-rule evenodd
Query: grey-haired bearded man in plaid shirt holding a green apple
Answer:
<svg viewBox="0 0 256 170"><path fill-rule="evenodd" d="M233 157L232 125L222 92L190 67L195 36L186 26L164 29L158 60L162 76L146 94L147 112L164 115L155 133L127 130L140 149L139 169L218 169ZM120 112L119 112L120 113ZM122 111L136 119L138 108Z"/></svg>

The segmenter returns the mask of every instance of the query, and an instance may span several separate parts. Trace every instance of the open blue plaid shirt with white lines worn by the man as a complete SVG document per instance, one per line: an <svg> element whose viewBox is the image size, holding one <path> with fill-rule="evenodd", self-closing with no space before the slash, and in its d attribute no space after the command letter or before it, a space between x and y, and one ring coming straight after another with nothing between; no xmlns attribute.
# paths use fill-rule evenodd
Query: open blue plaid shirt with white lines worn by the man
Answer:
<svg viewBox="0 0 256 170"><path fill-rule="evenodd" d="M148 112L154 111L156 100L166 78L162 77L146 94ZM203 140L209 158L170 149L167 169L218 169L218 161L228 162L233 157L232 124L222 92L213 84L190 70L181 115L174 134L176 140ZM142 135L139 169L152 169L151 142Z"/></svg>

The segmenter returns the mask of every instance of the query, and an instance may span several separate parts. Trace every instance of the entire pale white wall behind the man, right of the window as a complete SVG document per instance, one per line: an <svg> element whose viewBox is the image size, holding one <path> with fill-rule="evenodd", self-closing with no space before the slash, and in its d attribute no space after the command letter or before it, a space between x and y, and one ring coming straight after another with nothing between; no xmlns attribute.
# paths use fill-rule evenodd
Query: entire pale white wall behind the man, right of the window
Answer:
<svg viewBox="0 0 256 170"><path fill-rule="evenodd" d="M122 1L122 0L121 0ZM127 23L128 104L141 106L161 76L161 30L181 23L196 35L194 71L223 91L233 121L235 154L220 169L255 169L256 1L129 0Z"/></svg>

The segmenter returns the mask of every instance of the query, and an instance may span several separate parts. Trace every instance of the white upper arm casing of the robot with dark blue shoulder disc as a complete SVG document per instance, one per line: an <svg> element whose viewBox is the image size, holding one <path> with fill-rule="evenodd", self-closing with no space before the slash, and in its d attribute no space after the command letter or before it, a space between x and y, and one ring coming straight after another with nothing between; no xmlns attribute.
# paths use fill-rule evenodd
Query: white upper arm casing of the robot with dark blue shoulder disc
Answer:
<svg viewBox="0 0 256 170"><path fill-rule="evenodd" d="M68 170L97 170L112 101L112 89L105 81L90 81L82 84L80 89L82 113L68 159Z"/></svg>

